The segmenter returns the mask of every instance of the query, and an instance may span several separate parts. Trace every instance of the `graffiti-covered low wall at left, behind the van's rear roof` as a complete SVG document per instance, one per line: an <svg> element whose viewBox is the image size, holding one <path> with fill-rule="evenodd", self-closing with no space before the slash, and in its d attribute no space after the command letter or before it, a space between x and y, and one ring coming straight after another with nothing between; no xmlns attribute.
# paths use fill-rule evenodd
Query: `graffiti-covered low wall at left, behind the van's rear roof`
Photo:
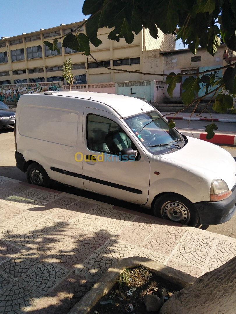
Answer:
<svg viewBox="0 0 236 314"><path fill-rule="evenodd" d="M51 86L36 86L32 87L31 85L20 87L20 84L18 87L6 87L4 88L4 85L0 86L0 100L3 102L14 102L17 103L21 95L24 94L34 94L34 93L40 93L40 92L50 92L50 91L60 91L62 90L62 86L60 85L51 85Z"/></svg>

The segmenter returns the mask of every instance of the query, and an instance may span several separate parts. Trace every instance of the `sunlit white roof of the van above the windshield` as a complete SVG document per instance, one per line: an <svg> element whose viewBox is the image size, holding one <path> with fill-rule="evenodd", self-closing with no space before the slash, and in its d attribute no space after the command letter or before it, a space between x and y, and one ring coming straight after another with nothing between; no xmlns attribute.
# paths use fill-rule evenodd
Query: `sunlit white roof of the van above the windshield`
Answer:
<svg viewBox="0 0 236 314"><path fill-rule="evenodd" d="M77 91L44 92L43 94L98 101L113 108L121 117L133 116L145 111L151 111L155 109L145 100L123 95Z"/></svg>

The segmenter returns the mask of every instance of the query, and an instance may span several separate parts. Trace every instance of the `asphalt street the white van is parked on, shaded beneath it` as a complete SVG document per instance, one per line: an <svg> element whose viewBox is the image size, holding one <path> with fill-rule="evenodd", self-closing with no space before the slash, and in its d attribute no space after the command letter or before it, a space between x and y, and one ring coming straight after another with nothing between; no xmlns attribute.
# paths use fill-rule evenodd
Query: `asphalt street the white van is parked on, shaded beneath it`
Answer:
<svg viewBox="0 0 236 314"><path fill-rule="evenodd" d="M235 124L231 123L234 125ZM236 160L236 147L233 146L221 146L226 149ZM23 182L26 181L26 175L20 171L15 165L15 143L14 143L14 129L0 130L0 175L20 180ZM87 192L79 190L72 187L67 187L64 184L54 183L52 186L53 189L59 190L62 192L67 192L75 195L80 195L87 198L92 198L94 200L102 201L105 203L113 204L116 206L121 206L124 208L129 208L131 210L136 210L139 212L152 214L151 210L144 209L136 204L119 201L115 198L106 197L92 192ZM227 222L221 225L210 225L210 226L199 226L199 228L222 234L225 236L231 236L236 238L236 214Z"/></svg>

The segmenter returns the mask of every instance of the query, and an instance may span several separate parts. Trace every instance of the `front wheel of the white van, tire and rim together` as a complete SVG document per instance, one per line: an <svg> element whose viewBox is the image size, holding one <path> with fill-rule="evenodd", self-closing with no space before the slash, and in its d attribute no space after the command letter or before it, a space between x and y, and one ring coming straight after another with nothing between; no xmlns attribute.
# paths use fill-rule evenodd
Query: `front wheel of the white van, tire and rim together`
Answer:
<svg viewBox="0 0 236 314"><path fill-rule="evenodd" d="M182 225L195 227L199 214L194 204L177 193L166 193L155 200L154 215Z"/></svg>

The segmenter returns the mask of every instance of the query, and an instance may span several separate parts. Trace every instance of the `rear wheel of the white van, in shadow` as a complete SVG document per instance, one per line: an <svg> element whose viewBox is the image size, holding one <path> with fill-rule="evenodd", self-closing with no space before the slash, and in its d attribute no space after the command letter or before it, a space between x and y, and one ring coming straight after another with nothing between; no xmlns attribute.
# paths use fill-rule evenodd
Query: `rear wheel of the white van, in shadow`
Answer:
<svg viewBox="0 0 236 314"><path fill-rule="evenodd" d="M51 184L51 179L47 172L37 162L33 162L29 165L26 171L26 176L29 183L40 187L49 187Z"/></svg>

